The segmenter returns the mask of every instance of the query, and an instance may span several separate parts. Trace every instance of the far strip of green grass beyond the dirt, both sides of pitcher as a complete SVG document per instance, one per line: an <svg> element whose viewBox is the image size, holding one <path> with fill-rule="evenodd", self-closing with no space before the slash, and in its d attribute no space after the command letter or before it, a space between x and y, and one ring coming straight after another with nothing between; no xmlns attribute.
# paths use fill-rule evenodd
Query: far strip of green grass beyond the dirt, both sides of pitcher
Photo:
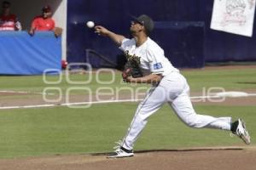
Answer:
<svg viewBox="0 0 256 170"><path fill-rule="evenodd" d="M195 70L182 71L184 77L187 78L192 91L201 91L202 88L223 87L229 90L246 90L255 88L256 84L256 68L232 69L232 70ZM67 82L65 75L61 77L61 83L45 84L43 77L0 77L0 90L23 90L31 92L42 92L46 87L60 87L65 93L67 88L71 87L88 87L93 92L99 87L122 88L122 87L142 87L142 85L129 85L121 81L120 73L115 72L113 76L108 73L92 74L90 83L87 84L70 84ZM96 82L96 78L102 82L113 83L104 85ZM56 82L59 76L47 76L47 81ZM89 79L88 74L70 75L71 81L85 82ZM0 96L1 98L1 96Z"/></svg>

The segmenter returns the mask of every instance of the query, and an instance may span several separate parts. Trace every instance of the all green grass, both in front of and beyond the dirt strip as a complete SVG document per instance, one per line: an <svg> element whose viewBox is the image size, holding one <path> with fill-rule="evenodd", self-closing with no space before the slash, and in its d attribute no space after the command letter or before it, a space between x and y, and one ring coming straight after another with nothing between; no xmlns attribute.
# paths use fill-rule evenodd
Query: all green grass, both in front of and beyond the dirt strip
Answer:
<svg viewBox="0 0 256 170"><path fill-rule="evenodd" d="M227 90L255 89L256 69L182 71L192 91L203 87L223 87ZM64 76L63 76L64 77ZM108 74L101 80L110 80ZM116 74L112 88L131 86L120 83ZM58 77L47 77L57 80ZM84 80L86 75L73 75L73 80ZM0 77L0 90L42 92L49 85L42 77ZM63 92L71 87L107 87L96 83L95 75L87 85L69 84L63 78L58 85ZM137 88L140 86L135 86ZM79 94L79 92L78 92ZM17 99L22 96L0 96L0 99ZM31 98L32 96L26 96ZM37 96L38 97L38 96ZM113 142L124 137L137 103L92 105L88 109L67 107L0 110L0 157L49 156L112 151ZM196 105L198 113L211 116L242 117L250 130L252 144L256 143L255 106ZM229 132L212 129L195 129L180 122L168 105L148 120L135 150L176 149L180 147L243 145L241 139L230 138Z"/></svg>

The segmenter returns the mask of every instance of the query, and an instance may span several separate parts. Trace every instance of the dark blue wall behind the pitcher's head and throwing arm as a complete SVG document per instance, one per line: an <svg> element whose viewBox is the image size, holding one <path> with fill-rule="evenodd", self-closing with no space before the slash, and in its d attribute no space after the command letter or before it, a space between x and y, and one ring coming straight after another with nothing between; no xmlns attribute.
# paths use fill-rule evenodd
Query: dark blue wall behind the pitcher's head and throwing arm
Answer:
<svg viewBox="0 0 256 170"><path fill-rule="evenodd" d="M94 54L120 64L118 48L106 37L98 37L85 26L93 20L116 33L130 37L131 15L148 14L155 21L151 37L164 48L177 67L203 67L207 62L254 61L256 38L210 29L213 0L73 0L67 2L67 60L94 67L108 65ZM255 30L255 29L254 29Z"/></svg>

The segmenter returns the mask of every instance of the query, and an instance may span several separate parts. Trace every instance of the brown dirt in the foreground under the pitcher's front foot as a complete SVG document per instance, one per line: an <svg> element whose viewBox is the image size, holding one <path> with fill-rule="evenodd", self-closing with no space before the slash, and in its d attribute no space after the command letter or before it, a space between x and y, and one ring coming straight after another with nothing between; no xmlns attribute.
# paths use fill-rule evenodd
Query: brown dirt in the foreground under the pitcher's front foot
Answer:
<svg viewBox="0 0 256 170"><path fill-rule="evenodd" d="M0 160L1 170L254 170L255 148L228 150L166 150L137 153L134 157L48 156Z"/></svg>

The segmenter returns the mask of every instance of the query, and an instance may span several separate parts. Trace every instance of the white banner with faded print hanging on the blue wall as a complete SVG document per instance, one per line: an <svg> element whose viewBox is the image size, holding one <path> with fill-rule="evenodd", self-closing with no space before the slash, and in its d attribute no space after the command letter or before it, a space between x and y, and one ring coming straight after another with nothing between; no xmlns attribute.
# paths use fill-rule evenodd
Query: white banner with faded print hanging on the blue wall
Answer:
<svg viewBox="0 0 256 170"><path fill-rule="evenodd" d="M253 36L256 0L214 0L211 29Z"/></svg>

